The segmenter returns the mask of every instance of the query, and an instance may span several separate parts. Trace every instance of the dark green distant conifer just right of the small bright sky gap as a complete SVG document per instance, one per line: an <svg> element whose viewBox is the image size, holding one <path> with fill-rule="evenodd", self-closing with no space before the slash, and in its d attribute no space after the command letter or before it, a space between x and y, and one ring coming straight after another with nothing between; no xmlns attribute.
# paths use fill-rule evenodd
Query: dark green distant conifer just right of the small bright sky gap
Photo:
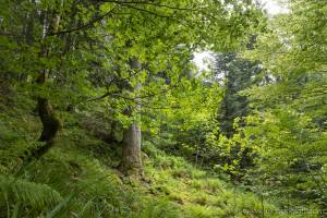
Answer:
<svg viewBox="0 0 327 218"><path fill-rule="evenodd" d="M242 59L234 52L218 53L215 58L214 81L225 88L218 121L220 131L227 137L231 137L234 133L235 119L244 120L250 110L249 100L241 95L241 92L257 84L256 76L261 72L261 68L258 62Z"/></svg>

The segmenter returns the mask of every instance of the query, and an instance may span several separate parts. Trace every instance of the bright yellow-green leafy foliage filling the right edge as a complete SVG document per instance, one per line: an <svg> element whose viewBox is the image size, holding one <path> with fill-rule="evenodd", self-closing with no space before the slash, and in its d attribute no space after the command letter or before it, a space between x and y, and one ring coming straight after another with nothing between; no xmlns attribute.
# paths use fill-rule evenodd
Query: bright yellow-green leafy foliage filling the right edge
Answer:
<svg viewBox="0 0 327 218"><path fill-rule="evenodd" d="M322 166L327 154L322 146L327 116L322 89L327 82L325 4L292 0L290 13L269 22L269 32L258 36L256 49L246 57L259 60L272 80L244 92L257 108L247 119L246 134L259 147L262 178L275 185L276 194L292 194L302 204L320 206L326 204Z"/></svg>

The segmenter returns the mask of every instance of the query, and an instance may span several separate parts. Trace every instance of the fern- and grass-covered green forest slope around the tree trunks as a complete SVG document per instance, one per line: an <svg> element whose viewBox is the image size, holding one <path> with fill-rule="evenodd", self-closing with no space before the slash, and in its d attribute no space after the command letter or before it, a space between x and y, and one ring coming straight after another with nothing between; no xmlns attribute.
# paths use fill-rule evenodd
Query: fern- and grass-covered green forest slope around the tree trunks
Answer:
<svg viewBox="0 0 327 218"><path fill-rule="evenodd" d="M65 114L56 147L13 177L20 167L17 156L38 145L40 123L31 113L33 102L3 97L0 102L0 217L262 217L263 205L254 194L148 142L143 145L146 180L122 178L117 170L119 146L94 137L77 114ZM8 182L16 178L21 183ZM264 207L276 209L266 203Z"/></svg>

